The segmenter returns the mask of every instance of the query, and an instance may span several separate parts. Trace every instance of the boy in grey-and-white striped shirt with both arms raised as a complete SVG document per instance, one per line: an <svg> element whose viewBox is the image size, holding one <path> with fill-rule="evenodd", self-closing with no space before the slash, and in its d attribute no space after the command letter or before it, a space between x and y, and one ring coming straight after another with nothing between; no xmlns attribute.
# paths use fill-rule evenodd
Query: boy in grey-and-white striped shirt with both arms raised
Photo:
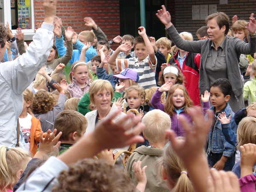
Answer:
<svg viewBox="0 0 256 192"><path fill-rule="evenodd" d="M137 58L128 59L116 59L119 52L127 52L131 49L131 45L128 43L120 45L115 52L111 55L108 63L116 65L117 71L124 70L126 68L132 68L137 71L140 76L138 84L144 89L156 86L155 81L155 68L157 65L157 58L154 55L154 49L148 39L146 30L144 27L139 27L139 35L134 39L134 52Z"/></svg>

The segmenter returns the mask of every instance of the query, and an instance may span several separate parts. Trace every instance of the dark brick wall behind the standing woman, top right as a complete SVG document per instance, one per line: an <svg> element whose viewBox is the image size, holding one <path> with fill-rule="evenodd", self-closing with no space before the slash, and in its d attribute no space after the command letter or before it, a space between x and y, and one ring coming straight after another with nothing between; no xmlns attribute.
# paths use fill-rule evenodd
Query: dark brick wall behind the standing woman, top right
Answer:
<svg viewBox="0 0 256 192"><path fill-rule="evenodd" d="M230 26L232 17L238 16L238 19L248 21L251 13L256 10L255 0L228 0L228 4L219 4L219 0L175 0L175 27L178 32L191 32L195 40L197 29L206 25L204 20L192 20L192 5L216 4L218 12L225 12L230 17Z"/></svg>

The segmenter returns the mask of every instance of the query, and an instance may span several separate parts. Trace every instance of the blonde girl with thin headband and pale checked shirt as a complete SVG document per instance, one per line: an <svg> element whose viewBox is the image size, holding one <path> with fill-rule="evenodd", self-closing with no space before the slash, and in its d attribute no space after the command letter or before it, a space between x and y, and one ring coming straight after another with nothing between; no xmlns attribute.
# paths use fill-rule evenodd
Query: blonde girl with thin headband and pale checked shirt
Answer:
<svg viewBox="0 0 256 192"><path fill-rule="evenodd" d="M85 62L76 61L71 66L71 72L68 79L70 81L68 90L71 96L81 99L84 93L89 90L92 75L89 72L88 66Z"/></svg>

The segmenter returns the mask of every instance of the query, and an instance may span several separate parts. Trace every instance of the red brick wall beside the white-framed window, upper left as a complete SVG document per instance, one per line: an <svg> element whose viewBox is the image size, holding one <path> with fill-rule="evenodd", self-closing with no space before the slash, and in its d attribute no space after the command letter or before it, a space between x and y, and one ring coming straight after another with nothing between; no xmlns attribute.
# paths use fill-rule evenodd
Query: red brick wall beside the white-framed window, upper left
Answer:
<svg viewBox="0 0 256 192"><path fill-rule="evenodd" d="M44 20L43 3L34 0L35 23ZM58 0L56 15L61 17L63 26L72 26L77 33L91 30L84 26L84 17L92 17L108 40L119 35L119 0Z"/></svg>

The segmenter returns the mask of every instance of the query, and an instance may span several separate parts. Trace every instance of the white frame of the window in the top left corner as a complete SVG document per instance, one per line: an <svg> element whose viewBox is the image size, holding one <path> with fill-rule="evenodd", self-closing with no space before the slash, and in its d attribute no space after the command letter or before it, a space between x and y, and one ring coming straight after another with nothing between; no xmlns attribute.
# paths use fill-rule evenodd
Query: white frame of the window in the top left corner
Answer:
<svg viewBox="0 0 256 192"><path fill-rule="evenodd" d="M34 0L30 0L30 7L31 7L31 27L32 29L22 29L22 32L24 33L24 40L26 40L27 35L35 35L35 16L34 16ZM10 0L3 0L3 17L4 17L4 23L8 23L11 26L12 18L11 18L11 1ZM12 34L16 33L16 29L12 29Z"/></svg>

